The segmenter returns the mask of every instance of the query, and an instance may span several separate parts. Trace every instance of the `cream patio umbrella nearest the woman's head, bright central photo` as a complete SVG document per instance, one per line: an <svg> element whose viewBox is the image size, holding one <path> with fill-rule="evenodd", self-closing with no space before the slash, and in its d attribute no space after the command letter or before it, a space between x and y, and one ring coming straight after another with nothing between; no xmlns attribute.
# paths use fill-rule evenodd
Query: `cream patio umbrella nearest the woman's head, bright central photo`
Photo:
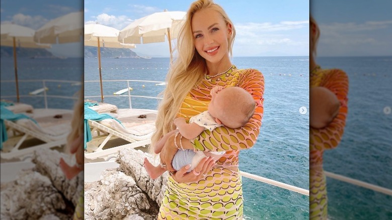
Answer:
<svg viewBox="0 0 392 220"><path fill-rule="evenodd" d="M119 41L124 43L143 44L169 41L170 61L171 40L177 38L185 21L185 12L158 12L138 19L120 31Z"/></svg>

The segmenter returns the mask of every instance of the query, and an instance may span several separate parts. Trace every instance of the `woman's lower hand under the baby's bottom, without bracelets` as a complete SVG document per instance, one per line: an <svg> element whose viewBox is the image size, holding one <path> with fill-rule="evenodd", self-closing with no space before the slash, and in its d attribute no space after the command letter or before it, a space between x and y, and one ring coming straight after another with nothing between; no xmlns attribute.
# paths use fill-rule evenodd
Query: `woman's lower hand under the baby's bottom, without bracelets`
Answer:
<svg viewBox="0 0 392 220"><path fill-rule="evenodd" d="M178 183L197 182L206 178L206 174L216 165L216 161L212 157L203 158L198 166L192 171L186 173L190 165L182 167L180 170L172 175L172 178ZM199 175L196 175L198 174Z"/></svg>

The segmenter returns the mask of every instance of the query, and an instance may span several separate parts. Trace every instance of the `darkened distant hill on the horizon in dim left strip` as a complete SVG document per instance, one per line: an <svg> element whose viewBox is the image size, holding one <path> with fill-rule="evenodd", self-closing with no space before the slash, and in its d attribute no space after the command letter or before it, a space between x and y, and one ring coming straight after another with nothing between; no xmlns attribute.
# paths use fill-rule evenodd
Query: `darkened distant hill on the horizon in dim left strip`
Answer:
<svg viewBox="0 0 392 220"><path fill-rule="evenodd" d="M2 57L13 57L13 47L0 47L0 56ZM54 58L55 56L43 48L17 48L17 56L18 57L50 57Z"/></svg>

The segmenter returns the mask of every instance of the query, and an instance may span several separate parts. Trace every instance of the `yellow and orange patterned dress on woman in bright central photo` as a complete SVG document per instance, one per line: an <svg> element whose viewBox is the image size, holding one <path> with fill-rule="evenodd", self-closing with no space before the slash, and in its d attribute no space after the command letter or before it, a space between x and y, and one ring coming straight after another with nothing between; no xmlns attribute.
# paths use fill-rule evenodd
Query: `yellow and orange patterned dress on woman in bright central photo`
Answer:
<svg viewBox="0 0 392 220"><path fill-rule="evenodd" d="M210 91L216 86L239 86L257 102L255 114L242 129L219 127L205 130L191 140L195 149L227 151L205 178L194 183L177 183L169 177L158 219L242 219L242 181L238 155L256 142L263 116L264 77L255 69L238 70L234 65L218 79L205 77L184 98L178 117L190 117L207 111ZM233 168L234 167L234 168ZM236 171L233 171L236 170Z"/></svg>

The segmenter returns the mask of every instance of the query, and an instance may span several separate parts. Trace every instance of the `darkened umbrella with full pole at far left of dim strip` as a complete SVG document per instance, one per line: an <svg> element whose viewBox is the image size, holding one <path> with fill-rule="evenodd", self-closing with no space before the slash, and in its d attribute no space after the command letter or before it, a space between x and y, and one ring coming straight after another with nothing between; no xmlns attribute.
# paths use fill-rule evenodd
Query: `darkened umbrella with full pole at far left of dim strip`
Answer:
<svg viewBox="0 0 392 220"><path fill-rule="evenodd" d="M13 47L17 102L19 102L18 64L16 48L50 48L50 45L37 44L36 42L34 42L33 37L35 30L24 26L11 23L1 24L0 32L0 45Z"/></svg>

